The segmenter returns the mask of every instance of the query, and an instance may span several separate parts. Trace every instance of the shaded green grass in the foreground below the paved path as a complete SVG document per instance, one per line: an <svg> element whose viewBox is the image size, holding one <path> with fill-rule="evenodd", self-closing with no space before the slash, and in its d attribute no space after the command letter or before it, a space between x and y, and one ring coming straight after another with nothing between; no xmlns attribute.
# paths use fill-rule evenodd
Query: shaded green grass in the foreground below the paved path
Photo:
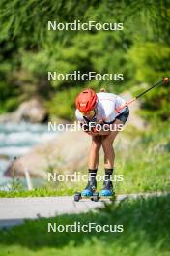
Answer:
<svg viewBox="0 0 170 256"><path fill-rule="evenodd" d="M74 222L123 225L122 233L47 232L47 223ZM97 254L115 256L168 256L170 254L170 197L127 200L97 212L61 215L26 221L0 231L0 256L53 256Z"/></svg>

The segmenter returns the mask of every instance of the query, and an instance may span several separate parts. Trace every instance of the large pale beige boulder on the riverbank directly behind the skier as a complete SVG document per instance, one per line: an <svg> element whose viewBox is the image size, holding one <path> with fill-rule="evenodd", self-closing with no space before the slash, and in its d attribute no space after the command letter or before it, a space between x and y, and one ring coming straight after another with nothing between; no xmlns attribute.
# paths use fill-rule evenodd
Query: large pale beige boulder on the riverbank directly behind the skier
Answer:
<svg viewBox="0 0 170 256"><path fill-rule="evenodd" d="M6 176L31 176L46 178L48 171L71 174L87 163L90 136L79 132L63 132L52 141L33 147L29 153L16 159L6 171Z"/></svg>

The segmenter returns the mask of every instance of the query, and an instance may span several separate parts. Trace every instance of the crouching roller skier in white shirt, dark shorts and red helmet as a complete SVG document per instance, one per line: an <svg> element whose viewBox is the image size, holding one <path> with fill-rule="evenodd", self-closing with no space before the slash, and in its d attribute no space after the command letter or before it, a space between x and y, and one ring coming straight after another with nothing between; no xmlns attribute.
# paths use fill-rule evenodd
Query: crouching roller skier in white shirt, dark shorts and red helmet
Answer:
<svg viewBox="0 0 170 256"><path fill-rule="evenodd" d="M113 142L128 120L128 106L126 101L118 95L107 93L104 90L96 93L92 89L84 89L76 98L75 115L83 130L92 137L89 152L88 171L89 181L81 192L83 197L91 197L97 189L97 171L99 165L99 149L104 152L105 175L103 188L99 192L100 197L111 197L114 194L112 174L114 170L115 153ZM93 125L92 125L93 124ZM96 129L98 127L98 129Z"/></svg>

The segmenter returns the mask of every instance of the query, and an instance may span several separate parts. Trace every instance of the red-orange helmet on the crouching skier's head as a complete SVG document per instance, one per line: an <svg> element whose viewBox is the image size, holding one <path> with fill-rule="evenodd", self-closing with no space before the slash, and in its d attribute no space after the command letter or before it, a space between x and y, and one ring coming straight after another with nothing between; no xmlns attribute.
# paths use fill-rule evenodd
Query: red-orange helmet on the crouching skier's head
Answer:
<svg viewBox="0 0 170 256"><path fill-rule="evenodd" d="M97 94L92 89L84 89L76 97L76 108L80 112L89 112L97 106Z"/></svg>

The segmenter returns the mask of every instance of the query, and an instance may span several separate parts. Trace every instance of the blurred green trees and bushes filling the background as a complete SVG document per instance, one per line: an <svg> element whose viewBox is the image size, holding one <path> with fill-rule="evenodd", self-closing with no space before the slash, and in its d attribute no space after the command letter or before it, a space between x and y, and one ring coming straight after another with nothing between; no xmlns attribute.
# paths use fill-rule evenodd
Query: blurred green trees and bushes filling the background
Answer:
<svg viewBox="0 0 170 256"><path fill-rule="evenodd" d="M123 31L48 31L47 21L121 22ZM74 98L83 87L121 93L170 74L168 0L1 0L0 112L12 112L38 95L49 116L73 119ZM124 81L48 81L47 71L123 73ZM143 98L147 114L170 116L168 90Z"/></svg>

